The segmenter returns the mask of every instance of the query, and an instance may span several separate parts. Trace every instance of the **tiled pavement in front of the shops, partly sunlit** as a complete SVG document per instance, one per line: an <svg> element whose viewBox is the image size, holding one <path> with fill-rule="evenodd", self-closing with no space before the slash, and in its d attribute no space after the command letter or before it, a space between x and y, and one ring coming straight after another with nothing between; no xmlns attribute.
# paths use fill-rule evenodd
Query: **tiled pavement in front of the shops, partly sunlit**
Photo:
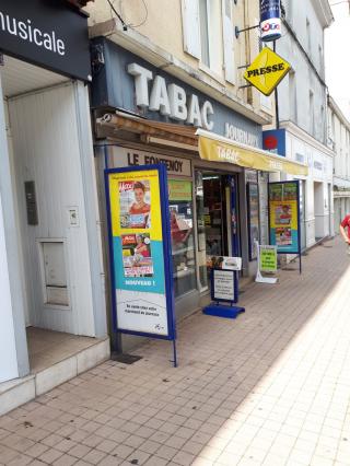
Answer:
<svg viewBox="0 0 350 466"><path fill-rule="evenodd" d="M150 341L0 418L0 464L350 465L350 257L336 240L293 267L236 321L185 319L179 368Z"/></svg>

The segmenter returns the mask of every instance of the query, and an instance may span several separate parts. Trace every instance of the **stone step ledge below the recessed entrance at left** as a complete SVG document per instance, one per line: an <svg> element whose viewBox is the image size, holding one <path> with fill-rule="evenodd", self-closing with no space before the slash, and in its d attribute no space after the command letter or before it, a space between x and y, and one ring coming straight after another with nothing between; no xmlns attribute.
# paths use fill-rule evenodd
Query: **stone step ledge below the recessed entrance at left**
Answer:
<svg viewBox="0 0 350 466"><path fill-rule="evenodd" d="M101 364L110 357L109 338L28 329L31 374L0 383L0 416Z"/></svg>

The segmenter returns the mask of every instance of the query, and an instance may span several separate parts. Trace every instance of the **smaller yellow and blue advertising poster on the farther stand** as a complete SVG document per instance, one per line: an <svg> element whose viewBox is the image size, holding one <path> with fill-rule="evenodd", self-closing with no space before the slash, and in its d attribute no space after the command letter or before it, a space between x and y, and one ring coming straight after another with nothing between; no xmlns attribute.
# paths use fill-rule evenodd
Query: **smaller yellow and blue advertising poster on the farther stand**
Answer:
<svg viewBox="0 0 350 466"><path fill-rule="evenodd" d="M269 184L270 244L300 254L299 182Z"/></svg>

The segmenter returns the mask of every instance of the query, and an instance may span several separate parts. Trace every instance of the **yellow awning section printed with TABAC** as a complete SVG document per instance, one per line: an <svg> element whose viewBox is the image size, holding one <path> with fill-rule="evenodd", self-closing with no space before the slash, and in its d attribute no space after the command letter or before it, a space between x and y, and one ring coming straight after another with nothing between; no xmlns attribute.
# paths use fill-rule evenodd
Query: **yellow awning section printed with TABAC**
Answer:
<svg viewBox="0 0 350 466"><path fill-rule="evenodd" d="M199 136L198 148L200 158L211 162L226 162L265 172L285 172L290 175L308 174L307 165L235 142L228 143Z"/></svg>

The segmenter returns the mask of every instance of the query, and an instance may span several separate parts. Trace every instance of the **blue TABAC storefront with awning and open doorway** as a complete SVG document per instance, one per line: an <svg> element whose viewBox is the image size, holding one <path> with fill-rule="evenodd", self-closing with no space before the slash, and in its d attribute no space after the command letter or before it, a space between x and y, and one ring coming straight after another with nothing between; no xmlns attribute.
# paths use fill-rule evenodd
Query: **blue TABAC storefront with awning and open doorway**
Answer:
<svg viewBox="0 0 350 466"><path fill-rule="evenodd" d="M254 240L267 211L259 205L258 184L267 183L259 171L280 170L279 158L259 149L258 124L108 39L94 39L92 49L93 57L103 57L92 86L100 176L105 167L167 167L182 316L208 299L211 257L241 256L242 273L255 272Z"/></svg>

